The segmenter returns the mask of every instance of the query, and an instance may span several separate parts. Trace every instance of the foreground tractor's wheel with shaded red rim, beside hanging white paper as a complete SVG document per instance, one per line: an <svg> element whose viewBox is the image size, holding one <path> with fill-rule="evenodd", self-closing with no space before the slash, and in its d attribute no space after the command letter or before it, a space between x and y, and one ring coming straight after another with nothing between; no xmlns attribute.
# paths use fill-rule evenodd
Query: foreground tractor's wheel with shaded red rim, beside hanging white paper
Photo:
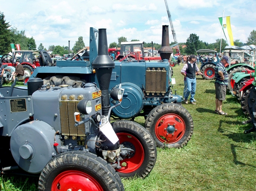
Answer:
<svg viewBox="0 0 256 191"><path fill-rule="evenodd" d="M122 168L116 169L121 177L146 177L156 163L156 144L150 133L133 121L121 120L111 123L120 144L135 153L120 161Z"/></svg>

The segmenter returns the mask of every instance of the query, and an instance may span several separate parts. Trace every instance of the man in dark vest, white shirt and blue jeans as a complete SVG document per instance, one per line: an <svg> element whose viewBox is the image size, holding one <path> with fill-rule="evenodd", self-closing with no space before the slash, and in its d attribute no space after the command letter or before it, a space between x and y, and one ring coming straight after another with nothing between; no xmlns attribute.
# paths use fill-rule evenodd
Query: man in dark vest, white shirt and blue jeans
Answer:
<svg viewBox="0 0 256 191"><path fill-rule="evenodd" d="M190 103L195 105L196 100L194 99L195 90L196 90L196 75L202 75L201 72L199 72L198 66L196 64L196 56L190 55L188 63L186 63L183 68L181 69L181 74L186 77L187 82L187 92L184 97L185 104L188 104L188 96L190 95Z"/></svg>

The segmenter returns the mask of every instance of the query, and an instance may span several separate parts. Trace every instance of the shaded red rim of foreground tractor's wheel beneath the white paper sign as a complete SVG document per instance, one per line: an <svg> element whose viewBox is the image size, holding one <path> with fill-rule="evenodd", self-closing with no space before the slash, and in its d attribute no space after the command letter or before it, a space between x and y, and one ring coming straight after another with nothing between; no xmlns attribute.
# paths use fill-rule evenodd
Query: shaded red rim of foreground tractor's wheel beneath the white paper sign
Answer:
<svg viewBox="0 0 256 191"><path fill-rule="evenodd" d="M117 133L117 137L120 140L120 144L124 142L133 144L135 147L135 154L130 159L124 159L121 161L121 169L116 169L118 172L130 173L134 172L142 165L144 160L144 149L139 140L129 133Z"/></svg>

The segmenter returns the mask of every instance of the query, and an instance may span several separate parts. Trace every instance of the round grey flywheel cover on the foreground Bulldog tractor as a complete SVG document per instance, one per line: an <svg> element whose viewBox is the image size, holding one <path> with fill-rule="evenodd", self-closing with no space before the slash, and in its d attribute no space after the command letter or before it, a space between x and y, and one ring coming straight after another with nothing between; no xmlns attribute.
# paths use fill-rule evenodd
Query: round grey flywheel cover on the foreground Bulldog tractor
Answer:
<svg viewBox="0 0 256 191"><path fill-rule="evenodd" d="M56 147L53 145L55 137L58 143ZM57 154L55 149L60 146L61 141L59 136L55 136L55 130L39 120L19 125L10 139L14 160L20 168L32 174L42 172L45 165Z"/></svg>

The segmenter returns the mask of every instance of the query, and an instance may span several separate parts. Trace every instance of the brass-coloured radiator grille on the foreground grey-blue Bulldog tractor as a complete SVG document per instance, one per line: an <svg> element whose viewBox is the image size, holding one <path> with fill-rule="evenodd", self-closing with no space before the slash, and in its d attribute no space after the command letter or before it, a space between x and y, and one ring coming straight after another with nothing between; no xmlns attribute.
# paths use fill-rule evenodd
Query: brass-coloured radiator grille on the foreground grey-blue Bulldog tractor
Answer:
<svg viewBox="0 0 256 191"><path fill-rule="evenodd" d="M75 127L74 113L78 112L78 100L60 100L60 119L62 135L85 136L84 124ZM80 117L81 121L81 117Z"/></svg>

